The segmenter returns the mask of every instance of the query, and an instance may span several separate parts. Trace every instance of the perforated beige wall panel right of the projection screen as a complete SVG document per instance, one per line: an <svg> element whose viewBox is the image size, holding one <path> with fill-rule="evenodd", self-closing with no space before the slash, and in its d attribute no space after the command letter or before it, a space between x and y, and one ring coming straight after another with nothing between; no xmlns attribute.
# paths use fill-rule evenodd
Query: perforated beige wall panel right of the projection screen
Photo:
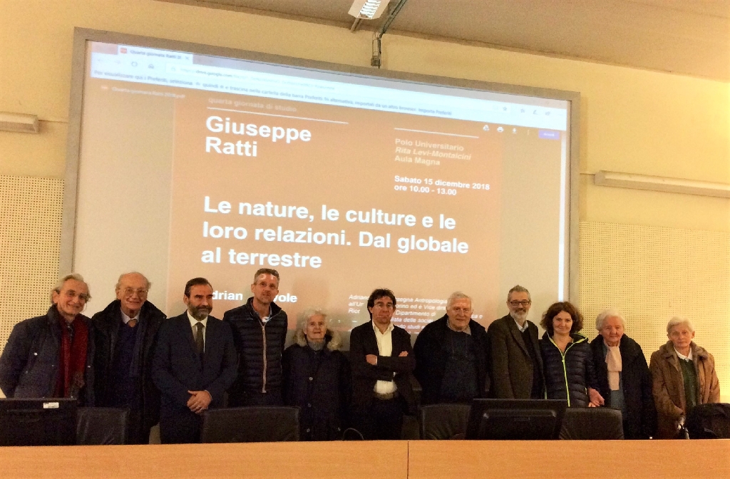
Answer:
<svg viewBox="0 0 730 479"><path fill-rule="evenodd" d="M647 360L666 342L673 316L690 318L695 341L715 356L723 400L730 401L730 234L611 223L580 223L583 334L615 307Z"/></svg>

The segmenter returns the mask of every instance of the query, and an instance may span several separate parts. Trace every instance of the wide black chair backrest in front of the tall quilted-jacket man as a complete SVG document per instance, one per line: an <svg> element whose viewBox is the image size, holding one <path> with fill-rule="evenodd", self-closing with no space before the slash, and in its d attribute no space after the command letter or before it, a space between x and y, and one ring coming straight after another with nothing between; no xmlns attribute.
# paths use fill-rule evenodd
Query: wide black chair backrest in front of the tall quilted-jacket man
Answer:
<svg viewBox="0 0 730 479"><path fill-rule="evenodd" d="M228 407L203 413L200 442L298 440L299 407Z"/></svg>

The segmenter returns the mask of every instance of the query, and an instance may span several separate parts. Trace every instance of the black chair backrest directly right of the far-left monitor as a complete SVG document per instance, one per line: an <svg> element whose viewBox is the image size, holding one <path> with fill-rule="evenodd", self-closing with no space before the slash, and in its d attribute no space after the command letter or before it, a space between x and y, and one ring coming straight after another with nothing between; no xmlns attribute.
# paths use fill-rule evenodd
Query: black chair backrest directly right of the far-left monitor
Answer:
<svg viewBox="0 0 730 479"><path fill-rule="evenodd" d="M76 416L77 445L119 445L127 442L126 409L79 407Z"/></svg>

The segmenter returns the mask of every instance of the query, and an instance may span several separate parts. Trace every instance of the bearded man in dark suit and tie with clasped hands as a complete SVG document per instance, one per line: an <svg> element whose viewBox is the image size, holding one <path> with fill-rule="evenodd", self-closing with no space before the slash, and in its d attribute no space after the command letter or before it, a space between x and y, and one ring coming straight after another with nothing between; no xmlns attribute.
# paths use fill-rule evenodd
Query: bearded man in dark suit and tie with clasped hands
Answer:
<svg viewBox="0 0 730 479"><path fill-rule="evenodd" d="M183 302L188 310L162 323L153 359L164 444L199 442L203 411L223 406L223 393L237 372L231 329L210 316L213 288L208 280L188 281Z"/></svg>

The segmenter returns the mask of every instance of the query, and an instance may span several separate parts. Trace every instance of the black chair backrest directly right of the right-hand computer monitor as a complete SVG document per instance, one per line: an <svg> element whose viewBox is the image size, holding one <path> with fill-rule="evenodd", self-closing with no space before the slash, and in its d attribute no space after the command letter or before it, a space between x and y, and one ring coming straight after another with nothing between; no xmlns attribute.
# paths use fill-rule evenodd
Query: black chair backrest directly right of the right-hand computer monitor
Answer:
<svg viewBox="0 0 730 479"><path fill-rule="evenodd" d="M623 439L623 416L610 407L569 407L563 416L561 439Z"/></svg>

